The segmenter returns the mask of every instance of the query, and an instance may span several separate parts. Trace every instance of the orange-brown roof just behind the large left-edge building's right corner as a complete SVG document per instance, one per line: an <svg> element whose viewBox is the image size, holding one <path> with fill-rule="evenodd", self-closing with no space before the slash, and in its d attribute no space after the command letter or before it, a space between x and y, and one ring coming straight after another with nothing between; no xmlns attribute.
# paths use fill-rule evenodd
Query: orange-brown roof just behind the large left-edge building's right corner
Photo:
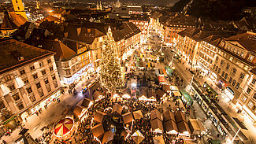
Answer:
<svg viewBox="0 0 256 144"><path fill-rule="evenodd" d="M42 45L43 49L54 51L56 53L54 57L60 61L67 61L77 55L74 50L70 49L68 46L65 46L65 44L58 39L45 39L41 41L40 44Z"/></svg>

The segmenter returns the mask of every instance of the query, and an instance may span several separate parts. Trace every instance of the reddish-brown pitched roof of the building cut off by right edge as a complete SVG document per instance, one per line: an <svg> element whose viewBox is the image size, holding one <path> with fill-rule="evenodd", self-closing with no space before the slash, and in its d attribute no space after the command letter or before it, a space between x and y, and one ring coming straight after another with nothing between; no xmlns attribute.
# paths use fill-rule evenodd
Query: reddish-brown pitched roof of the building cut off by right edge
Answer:
<svg viewBox="0 0 256 144"><path fill-rule="evenodd" d="M227 42L238 42L248 51L256 53L256 33L247 31L246 33L234 35L225 39Z"/></svg>

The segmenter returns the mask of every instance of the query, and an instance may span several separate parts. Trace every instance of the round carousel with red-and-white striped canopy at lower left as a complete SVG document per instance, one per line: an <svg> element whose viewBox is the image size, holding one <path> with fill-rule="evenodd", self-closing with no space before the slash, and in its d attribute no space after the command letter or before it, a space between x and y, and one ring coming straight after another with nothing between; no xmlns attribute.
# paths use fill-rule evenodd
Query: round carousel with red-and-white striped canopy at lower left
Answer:
<svg viewBox="0 0 256 144"><path fill-rule="evenodd" d="M60 120L57 124L54 126L54 132L53 134L58 139L69 139L72 136L72 132L74 130L74 120L72 117L65 117L64 119Z"/></svg>

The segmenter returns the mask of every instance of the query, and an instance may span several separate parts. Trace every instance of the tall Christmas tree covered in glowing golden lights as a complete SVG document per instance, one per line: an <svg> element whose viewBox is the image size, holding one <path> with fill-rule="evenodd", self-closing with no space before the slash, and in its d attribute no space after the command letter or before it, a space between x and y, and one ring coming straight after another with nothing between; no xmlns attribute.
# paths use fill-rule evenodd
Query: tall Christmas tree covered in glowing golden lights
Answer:
<svg viewBox="0 0 256 144"><path fill-rule="evenodd" d="M105 87L111 93L120 92L121 87L124 87L124 81L121 78L121 64L118 59L117 46L110 28L107 31L106 41L102 46L100 66L102 87Z"/></svg>

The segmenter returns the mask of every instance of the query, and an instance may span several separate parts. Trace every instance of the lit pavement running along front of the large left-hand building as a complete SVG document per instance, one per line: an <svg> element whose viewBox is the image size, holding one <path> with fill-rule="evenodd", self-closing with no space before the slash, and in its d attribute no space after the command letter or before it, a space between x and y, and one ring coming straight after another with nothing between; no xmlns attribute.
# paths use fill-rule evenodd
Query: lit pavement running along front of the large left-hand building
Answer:
<svg viewBox="0 0 256 144"><path fill-rule="evenodd" d="M80 83L76 84L76 90L80 91L83 86L90 83L93 79L95 79L95 77L91 77L89 80L80 81ZM65 94L61 95L59 98L61 102L52 102L47 109L43 109L39 116L36 116L35 114L29 116L27 122L23 123L24 127L29 129L28 133L30 133L32 138L39 138L44 132L46 132L41 131L42 127L46 127L49 124L55 124L58 120L64 118L65 115L63 113L65 113L67 109L72 109L72 107L76 106L76 103L80 102L83 95L80 93L69 94L68 89L65 89ZM20 126L17 127L10 136L4 135L1 139L6 140L7 143L14 143L14 141L20 137L20 135L18 135L19 132Z"/></svg>

